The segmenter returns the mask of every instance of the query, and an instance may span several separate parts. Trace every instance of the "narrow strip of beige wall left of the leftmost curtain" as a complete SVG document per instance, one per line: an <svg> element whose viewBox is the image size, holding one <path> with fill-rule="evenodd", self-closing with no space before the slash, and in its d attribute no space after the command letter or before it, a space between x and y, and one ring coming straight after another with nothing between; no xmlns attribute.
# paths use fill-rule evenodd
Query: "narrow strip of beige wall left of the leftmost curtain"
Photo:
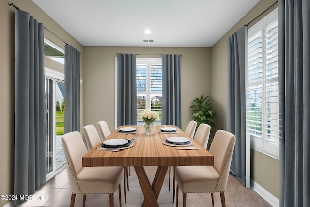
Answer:
<svg viewBox="0 0 310 207"><path fill-rule="evenodd" d="M6 1L0 1L0 194L13 193L14 156L14 55L15 30L14 16L6 6ZM0 200L0 206L8 201Z"/></svg>

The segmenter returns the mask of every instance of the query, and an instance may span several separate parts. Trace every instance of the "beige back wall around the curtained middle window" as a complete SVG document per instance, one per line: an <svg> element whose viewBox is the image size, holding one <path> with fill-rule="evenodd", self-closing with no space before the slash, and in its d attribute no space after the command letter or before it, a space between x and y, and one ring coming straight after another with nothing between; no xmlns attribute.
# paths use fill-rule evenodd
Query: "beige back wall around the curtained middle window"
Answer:
<svg viewBox="0 0 310 207"><path fill-rule="evenodd" d="M115 123L115 57L117 53L156 57L181 54L182 128L193 119L192 100L211 93L211 48L84 47L84 124ZM143 56L139 55L142 54ZM160 57L160 55L157 55Z"/></svg>

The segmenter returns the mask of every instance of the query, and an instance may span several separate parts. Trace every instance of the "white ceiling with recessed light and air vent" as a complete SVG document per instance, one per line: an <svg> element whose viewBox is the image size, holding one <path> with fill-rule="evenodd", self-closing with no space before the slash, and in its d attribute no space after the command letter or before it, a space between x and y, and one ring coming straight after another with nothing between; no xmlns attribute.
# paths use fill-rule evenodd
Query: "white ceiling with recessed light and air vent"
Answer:
<svg viewBox="0 0 310 207"><path fill-rule="evenodd" d="M83 46L212 47L259 0L32 1Z"/></svg>

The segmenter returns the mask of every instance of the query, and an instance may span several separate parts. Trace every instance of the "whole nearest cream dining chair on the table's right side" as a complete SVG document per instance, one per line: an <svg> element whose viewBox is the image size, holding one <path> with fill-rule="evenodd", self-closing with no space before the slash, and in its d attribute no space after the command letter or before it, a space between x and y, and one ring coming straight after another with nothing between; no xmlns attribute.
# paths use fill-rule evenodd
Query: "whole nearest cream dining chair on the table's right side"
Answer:
<svg viewBox="0 0 310 207"><path fill-rule="evenodd" d="M186 207L186 193L219 192L222 206L225 207L224 192L227 186L229 170L233 157L235 136L224 130L217 130L210 146L214 156L214 166L178 166L175 168L176 206L178 206L179 187L183 193L183 207Z"/></svg>

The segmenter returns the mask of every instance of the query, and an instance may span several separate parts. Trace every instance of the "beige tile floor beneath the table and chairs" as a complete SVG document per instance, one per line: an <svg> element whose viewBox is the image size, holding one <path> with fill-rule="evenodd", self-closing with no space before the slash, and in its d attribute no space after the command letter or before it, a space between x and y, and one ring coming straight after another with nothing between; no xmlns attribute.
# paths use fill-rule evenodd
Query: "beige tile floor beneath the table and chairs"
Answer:
<svg viewBox="0 0 310 207"><path fill-rule="evenodd" d="M150 180L155 176L156 167L145 167ZM172 185L172 182L171 182ZM131 176L129 176L129 191L127 191L127 204L124 203L124 181L122 186L122 207L140 207L143 201L138 178L131 167ZM18 207L68 207L70 206L71 191L68 183L67 171L64 169L61 173L50 179L44 186L37 190L33 195L39 199L28 200ZM40 199L40 196L48 199ZM215 207L221 207L219 193L214 194ZM246 189L240 181L233 175L229 176L227 189L225 192L227 207L270 207L270 205L260 197L255 191ZM83 198L76 196L75 206L82 206ZM176 207L176 202L172 202L172 190L168 190L168 173L160 192L158 202L160 207ZM87 195L86 207L109 207L109 195ZM118 207L118 191L114 193L114 206ZM182 194L179 193L179 207L182 206ZM187 207L212 207L210 193L190 193L187 194Z"/></svg>

